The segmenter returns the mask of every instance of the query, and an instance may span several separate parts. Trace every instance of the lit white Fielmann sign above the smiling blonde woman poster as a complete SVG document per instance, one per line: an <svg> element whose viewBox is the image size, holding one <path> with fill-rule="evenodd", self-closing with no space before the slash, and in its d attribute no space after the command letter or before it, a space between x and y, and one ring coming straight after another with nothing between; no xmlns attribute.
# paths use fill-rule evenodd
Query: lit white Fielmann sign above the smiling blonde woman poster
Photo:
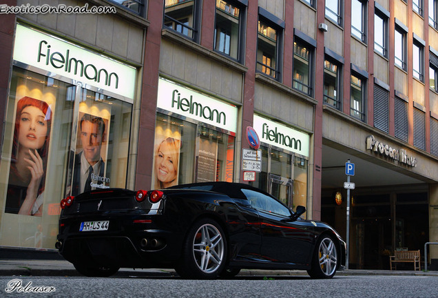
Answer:
<svg viewBox="0 0 438 298"><path fill-rule="evenodd" d="M236 135L238 108L160 78L157 108L223 128Z"/></svg>

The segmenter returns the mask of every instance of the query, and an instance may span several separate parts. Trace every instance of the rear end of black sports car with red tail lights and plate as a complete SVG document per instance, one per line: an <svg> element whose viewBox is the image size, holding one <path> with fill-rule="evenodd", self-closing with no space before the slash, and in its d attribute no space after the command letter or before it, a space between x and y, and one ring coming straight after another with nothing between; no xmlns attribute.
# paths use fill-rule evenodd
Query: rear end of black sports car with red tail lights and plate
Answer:
<svg viewBox="0 0 438 298"><path fill-rule="evenodd" d="M153 203L152 195L162 197ZM171 268L180 258L172 248L181 245L189 223L181 213L180 219L165 215L166 203L158 191L107 189L69 197L61 203L56 248L75 265Z"/></svg>

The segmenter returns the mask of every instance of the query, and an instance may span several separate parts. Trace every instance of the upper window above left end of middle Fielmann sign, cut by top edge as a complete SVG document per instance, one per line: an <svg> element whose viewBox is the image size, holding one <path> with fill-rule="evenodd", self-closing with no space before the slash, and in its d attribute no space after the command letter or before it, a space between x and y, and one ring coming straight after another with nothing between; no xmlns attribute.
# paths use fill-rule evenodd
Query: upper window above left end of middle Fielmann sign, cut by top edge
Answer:
<svg viewBox="0 0 438 298"><path fill-rule="evenodd" d="M198 0L165 0L164 27L194 41L198 38Z"/></svg>

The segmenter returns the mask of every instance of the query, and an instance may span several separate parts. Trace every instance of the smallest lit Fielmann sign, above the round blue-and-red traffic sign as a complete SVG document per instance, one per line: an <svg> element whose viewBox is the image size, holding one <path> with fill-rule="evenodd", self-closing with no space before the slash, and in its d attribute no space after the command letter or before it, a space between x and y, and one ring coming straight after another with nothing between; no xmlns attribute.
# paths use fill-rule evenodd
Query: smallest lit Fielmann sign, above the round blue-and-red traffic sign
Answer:
<svg viewBox="0 0 438 298"><path fill-rule="evenodd" d="M309 157L310 137L289 126L254 115L253 128L260 141Z"/></svg>

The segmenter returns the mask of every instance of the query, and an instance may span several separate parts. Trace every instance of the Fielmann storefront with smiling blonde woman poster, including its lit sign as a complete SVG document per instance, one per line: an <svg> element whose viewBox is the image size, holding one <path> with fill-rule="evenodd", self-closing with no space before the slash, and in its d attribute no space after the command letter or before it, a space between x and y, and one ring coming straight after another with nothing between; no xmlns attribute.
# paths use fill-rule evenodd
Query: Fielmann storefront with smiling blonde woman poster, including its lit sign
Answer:
<svg viewBox="0 0 438 298"><path fill-rule="evenodd" d="M152 185L233 182L237 108L160 79Z"/></svg>

